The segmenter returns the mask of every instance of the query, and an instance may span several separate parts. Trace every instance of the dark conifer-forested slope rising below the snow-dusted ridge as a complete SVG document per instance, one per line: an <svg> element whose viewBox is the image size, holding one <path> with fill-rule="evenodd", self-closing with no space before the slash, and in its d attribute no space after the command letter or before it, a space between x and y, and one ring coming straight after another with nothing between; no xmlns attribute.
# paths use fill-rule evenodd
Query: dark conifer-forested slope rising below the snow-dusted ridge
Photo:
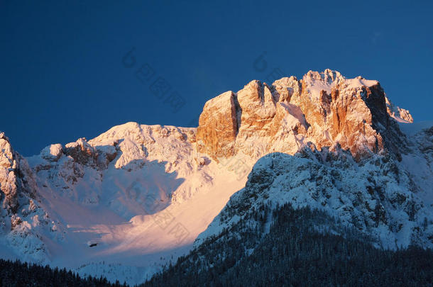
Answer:
<svg viewBox="0 0 433 287"><path fill-rule="evenodd" d="M432 249L377 249L327 213L290 203L245 219L143 286L432 286Z"/></svg>

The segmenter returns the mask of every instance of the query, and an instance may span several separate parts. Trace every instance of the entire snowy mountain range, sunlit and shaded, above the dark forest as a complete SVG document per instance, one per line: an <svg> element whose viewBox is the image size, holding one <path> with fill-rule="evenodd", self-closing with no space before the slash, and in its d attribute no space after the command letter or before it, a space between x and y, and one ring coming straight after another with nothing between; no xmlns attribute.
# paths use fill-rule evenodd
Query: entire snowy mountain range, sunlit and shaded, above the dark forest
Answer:
<svg viewBox="0 0 433 287"><path fill-rule="evenodd" d="M327 69L221 94L197 128L126 123L28 158L1 134L0 256L141 283L264 203L433 247L433 127L412 121Z"/></svg>

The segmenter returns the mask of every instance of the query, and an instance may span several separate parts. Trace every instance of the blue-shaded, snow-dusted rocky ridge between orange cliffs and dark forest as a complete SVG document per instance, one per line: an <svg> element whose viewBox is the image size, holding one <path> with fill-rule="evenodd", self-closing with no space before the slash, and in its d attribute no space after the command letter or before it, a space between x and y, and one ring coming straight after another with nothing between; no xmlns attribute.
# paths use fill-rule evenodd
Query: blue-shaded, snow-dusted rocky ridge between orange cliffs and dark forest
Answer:
<svg viewBox="0 0 433 287"><path fill-rule="evenodd" d="M432 159L421 162L429 164ZM219 235L262 203L277 206L289 202L295 208L327 211L369 235L376 246L433 247L433 196L431 189L426 189L433 184L431 173L424 179L418 177L420 184L415 184L411 171L406 159L399 164L390 157L376 156L360 164L341 150L306 148L294 156L268 154L254 165L246 187L231 196L194 244Z"/></svg>

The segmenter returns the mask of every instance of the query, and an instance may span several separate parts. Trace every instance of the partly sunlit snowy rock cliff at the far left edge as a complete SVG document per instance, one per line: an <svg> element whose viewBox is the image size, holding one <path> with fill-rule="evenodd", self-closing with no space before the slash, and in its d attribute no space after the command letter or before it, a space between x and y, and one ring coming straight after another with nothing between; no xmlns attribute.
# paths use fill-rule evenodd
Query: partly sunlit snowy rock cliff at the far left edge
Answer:
<svg viewBox="0 0 433 287"><path fill-rule="evenodd" d="M60 240L56 223L41 207L35 175L26 159L15 152L9 138L0 133L0 235L23 260L48 262L42 240Z"/></svg>

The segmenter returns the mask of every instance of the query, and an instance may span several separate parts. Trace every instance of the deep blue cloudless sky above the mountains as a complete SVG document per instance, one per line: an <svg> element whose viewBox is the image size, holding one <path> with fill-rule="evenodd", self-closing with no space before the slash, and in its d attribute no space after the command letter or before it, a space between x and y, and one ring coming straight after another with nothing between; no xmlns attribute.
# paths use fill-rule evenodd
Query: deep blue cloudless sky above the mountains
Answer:
<svg viewBox="0 0 433 287"><path fill-rule="evenodd" d="M128 121L191 125L207 100L275 68L378 79L433 120L433 1L25 2L0 0L0 130L26 156ZM155 75L141 83L146 63ZM177 113L150 91L157 77L185 99Z"/></svg>

